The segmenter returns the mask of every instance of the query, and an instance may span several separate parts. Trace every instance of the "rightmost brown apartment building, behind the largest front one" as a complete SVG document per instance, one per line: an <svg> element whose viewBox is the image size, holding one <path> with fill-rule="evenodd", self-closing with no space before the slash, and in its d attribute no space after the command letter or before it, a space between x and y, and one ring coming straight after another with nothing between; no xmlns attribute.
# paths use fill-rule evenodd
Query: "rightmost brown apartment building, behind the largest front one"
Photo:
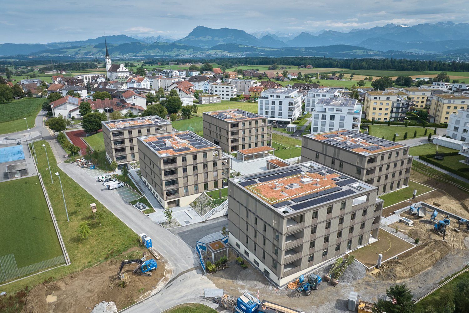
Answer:
<svg viewBox="0 0 469 313"><path fill-rule="evenodd" d="M412 156L399 143L338 130L303 136L301 161L312 160L378 187L378 194L408 186Z"/></svg>

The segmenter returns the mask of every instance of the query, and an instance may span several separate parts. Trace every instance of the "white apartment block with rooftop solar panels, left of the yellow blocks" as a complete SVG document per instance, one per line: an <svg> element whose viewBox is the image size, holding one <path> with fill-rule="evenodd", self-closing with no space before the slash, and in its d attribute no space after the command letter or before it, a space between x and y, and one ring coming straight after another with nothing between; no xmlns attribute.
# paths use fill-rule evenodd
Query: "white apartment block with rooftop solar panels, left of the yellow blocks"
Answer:
<svg viewBox="0 0 469 313"><path fill-rule="evenodd" d="M311 112L311 133L339 129L360 130L362 105L357 99L321 98Z"/></svg>

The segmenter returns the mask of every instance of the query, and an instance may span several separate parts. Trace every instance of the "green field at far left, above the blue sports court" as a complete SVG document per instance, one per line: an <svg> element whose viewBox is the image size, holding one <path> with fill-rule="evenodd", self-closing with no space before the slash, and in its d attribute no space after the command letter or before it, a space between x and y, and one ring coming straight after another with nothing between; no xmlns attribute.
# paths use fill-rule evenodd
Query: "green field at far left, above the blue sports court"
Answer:
<svg viewBox="0 0 469 313"><path fill-rule="evenodd" d="M33 128L44 101L41 98L23 98L0 105L0 134L26 130L23 117L26 117L28 126Z"/></svg>

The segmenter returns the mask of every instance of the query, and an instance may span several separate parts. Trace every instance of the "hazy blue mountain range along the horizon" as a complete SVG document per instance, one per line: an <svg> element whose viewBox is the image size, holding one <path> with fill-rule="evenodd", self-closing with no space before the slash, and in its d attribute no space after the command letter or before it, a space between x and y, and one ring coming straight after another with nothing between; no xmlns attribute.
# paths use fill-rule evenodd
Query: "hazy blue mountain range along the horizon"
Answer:
<svg viewBox="0 0 469 313"><path fill-rule="evenodd" d="M104 37L47 44L0 44L0 55L38 57L102 57ZM186 37L106 36L111 56L230 57L230 56L323 56L404 57L446 60L469 55L469 23L442 22L413 26L387 24L349 32L316 31L275 33L197 26Z"/></svg>

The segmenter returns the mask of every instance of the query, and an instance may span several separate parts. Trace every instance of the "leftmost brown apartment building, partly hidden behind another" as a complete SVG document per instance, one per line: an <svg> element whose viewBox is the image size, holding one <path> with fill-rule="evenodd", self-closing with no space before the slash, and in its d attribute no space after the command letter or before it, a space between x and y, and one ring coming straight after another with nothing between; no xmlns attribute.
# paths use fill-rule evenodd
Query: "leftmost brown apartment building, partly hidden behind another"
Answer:
<svg viewBox="0 0 469 313"><path fill-rule="evenodd" d="M172 124L161 117L144 116L103 121L106 159L123 165L139 160L137 137L164 134L173 130Z"/></svg>

